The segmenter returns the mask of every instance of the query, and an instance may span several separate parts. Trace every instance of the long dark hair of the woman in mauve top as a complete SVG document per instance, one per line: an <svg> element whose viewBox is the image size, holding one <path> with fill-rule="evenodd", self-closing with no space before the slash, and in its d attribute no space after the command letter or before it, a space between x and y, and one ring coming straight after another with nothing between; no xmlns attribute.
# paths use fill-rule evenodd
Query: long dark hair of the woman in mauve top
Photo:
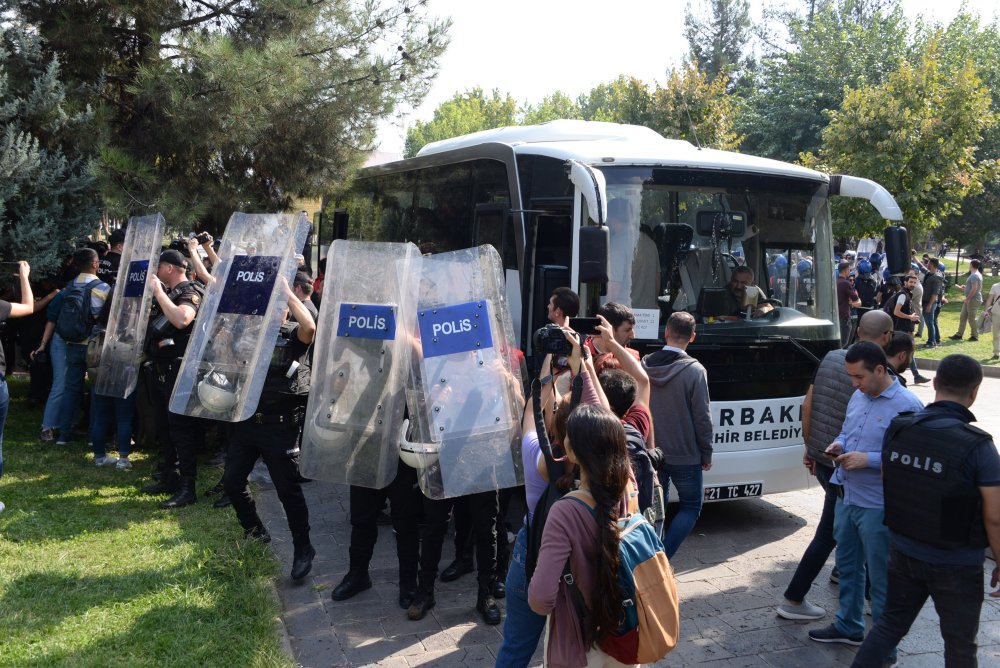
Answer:
<svg viewBox="0 0 1000 668"><path fill-rule="evenodd" d="M590 597L590 615L584 623L584 641L589 647L617 630L622 617L618 506L628 484L628 451L619 419L594 404L578 406L570 414L566 436L569 449L587 473L590 493L597 502L595 513L600 527L596 588Z"/></svg>

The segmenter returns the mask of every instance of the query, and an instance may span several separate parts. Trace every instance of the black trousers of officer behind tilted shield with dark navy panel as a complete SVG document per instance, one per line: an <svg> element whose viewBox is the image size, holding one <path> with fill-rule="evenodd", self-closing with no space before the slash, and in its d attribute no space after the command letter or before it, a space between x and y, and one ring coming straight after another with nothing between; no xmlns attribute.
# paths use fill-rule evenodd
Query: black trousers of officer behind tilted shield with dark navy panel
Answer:
<svg viewBox="0 0 1000 668"><path fill-rule="evenodd" d="M292 536L309 533L309 508L299 483L299 427L295 424L256 424L253 419L233 428L226 455L222 487L244 529L261 524L247 478L257 458L264 460L278 499L285 509Z"/></svg>

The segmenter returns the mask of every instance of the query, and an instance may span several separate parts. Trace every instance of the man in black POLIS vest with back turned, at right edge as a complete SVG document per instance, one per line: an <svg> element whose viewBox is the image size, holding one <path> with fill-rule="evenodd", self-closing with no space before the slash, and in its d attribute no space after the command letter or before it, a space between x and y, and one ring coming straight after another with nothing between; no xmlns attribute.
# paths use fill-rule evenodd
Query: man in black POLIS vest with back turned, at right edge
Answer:
<svg viewBox="0 0 1000 668"><path fill-rule="evenodd" d="M946 666L976 665L984 549L1000 554L1000 457L970 422L983 371L968 355L941 360L934 403L894 418L882 446L889 591L854 666L891 665L927 597L941 620ZM993 569L993 586L1000 567Z"/></svg>

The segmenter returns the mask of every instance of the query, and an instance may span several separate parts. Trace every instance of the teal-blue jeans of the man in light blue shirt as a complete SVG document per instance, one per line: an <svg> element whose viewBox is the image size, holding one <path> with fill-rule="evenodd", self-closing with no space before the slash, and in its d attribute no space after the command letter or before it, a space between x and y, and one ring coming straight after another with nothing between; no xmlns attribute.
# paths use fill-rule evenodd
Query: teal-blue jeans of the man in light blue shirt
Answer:
<svg viewBox="0 0 1000 668"><path fill-rule="evenodd" d="M837 499L833 537L840 570L840 609L834 624L848 636L865 634L865 564L871 580L872 620L878 622L888 589L889 528L882 508L862 508Z"/></svg>

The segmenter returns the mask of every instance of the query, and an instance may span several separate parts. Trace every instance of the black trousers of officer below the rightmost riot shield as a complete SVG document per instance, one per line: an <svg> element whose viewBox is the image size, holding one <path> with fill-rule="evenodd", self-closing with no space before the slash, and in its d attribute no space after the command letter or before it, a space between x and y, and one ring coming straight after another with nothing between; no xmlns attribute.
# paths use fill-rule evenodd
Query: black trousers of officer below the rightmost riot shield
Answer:
<svg viewBox="0 0 1000 668"><path fill-rule="evenodd" d="M457 503L468 504L476 543L476 567L479 586L491 587L497 571L496 521L499 502L496 491L480 492L455 499L434 500L424 498L424 528L420 546L420 589L433 591L437 578L441 548L448 531L448 520Z"/></svg>

